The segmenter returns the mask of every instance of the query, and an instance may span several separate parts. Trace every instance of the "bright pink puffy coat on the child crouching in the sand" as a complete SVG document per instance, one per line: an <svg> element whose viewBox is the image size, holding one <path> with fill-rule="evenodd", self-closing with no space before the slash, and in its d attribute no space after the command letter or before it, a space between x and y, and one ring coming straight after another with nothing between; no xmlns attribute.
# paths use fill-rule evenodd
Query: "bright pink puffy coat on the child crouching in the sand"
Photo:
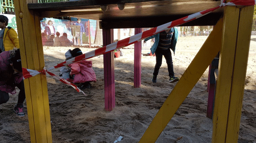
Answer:
<svg viewBox="0 0 256 143"><path fill-rule="evenodd" d="M75 75L73 83L84 83L87 81L96 81L96 75L92 69L92 61L79 61L69 64L71 67L70 75Z"/></svg>

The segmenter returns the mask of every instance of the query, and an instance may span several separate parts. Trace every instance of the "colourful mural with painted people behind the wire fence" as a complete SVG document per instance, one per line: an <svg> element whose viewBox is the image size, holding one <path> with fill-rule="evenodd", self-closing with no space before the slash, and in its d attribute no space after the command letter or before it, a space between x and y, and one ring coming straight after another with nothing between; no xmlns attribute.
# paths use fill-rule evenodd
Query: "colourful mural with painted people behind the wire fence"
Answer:
<svg viewBox="0 0 256 143"><path fill-rule="evenodd" d="M101 32L97 30L96 24L96 20L81 19L78 22L74 17L70 20L43 18L41 20L42 44L65 47L77 45L90 48L91 44L96 42L99 47L102 45L102 30Z"/></svg>

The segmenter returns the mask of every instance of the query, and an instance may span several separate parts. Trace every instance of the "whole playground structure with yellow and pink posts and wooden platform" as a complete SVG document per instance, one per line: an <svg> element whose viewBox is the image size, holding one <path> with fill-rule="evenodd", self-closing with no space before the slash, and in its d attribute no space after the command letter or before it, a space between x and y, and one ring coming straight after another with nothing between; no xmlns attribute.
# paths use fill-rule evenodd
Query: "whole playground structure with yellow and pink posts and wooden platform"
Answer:
<svg viewBox="0 0 256 143"><path fill-rule="evenodd" d="M166 2L166 4L165 4ZM168 1L169 2L169 1ZM182 2L182 1L181 1ZM203 5L200 9L196 9L195 5L191 4L191 9L187 8L184 15L189 13L198 12L200 10L205 10L207 8L212 8L218 6L220 1L209 2L210 4L200 1ZM28 4L29 3L29 4ZM118 26L127 26L138 28L138 27L154 27L160 24L171 21L172 19L163 17L174 17L178 19L178 11L174 10L174 13L164 13L166 15L159 16L160 19L154 22L143 21L139 23L140 18L148 17L156 18L157 10L148 12L148 15L140 15L141 17L132 18L136 15L131 12L130 21L122 21L122 12L120 12L120 17L112 17L108 9L104 14L103 11L87 11L87 12L71 12L73 9L86 9L86 6L90 6L90 1L67 1L59 2L59 5L36 3L36 0L27 1L15 1L15 15L17 18L18 34L21 47L22 65L24 68L33 70L42 70L44 67L43 60L43 50L41 41L41 31L40 31L40 18L41 17L54 17L54 16L67 16L72 15L76 17L87 17L89 19L94 17L94 19L99 18L102 20L101 27L103 29L103 46L113 43L113 28L121 28ZM128 6L134 6L134 11L136 11L136 6L140 5L152 5L161 3L162 6L169 8L175 7L175 4L171 5L167 1L153 1L150 4L145 1L133 3L133 1L126 1ZM186 3L184 3L186 6ZM205 4L205 5L204 5ZM70 7L72 5L72 7ZM100 5L113 6L116 3L104 2L97 3L91 7L99 7ZM53 10L53 7L55 8ZM159 5L161 6L161 5ZM194 6L194 7L193 7ZM138 7L137 7L138 8ZM210 65L212 60L216 57L220 51L220 61L219 61L219 74L216 86L215 95L215 108L213 114L213 137L212 142L237 142L239 122L241 117L243 91L244 91L244 81L246 76L246 66L248 60L249 52L249 41L250 41L250 31L253 15L253 6L226 6L223 9L212 13L212 15L207 15L206 17L198 18L195 21L190 21L186 24L194 25L200 20L205 20L206 22L200 22L200 24L216 25L205 41L202 48L199 50L198 54L195 56L194 60L191 62L187 70L184 72L180 81L173 88L172 92L164 102L163 106L157 113L156 117L153 119L149 128L142 136L140 142L155 142L157 137L163 131L167 123L170 121L171 117L177 111L181 103L189 94L190 90L194 87L202 73ZM66 11L61 11L61 10ZM157 9L157 6L156 8ZM180 9L180 7L179 7ZM182 8L181 8L182 9ZM192 10L193 9L193 10ZM68 11L70 10L70 11ZM116 9L118 10L118 9ZM124 9L125 10L125 9ZM128 9L129 10L129 9ZM224 10L224 11L223 11ZM39 12L40 11L40 12ZM161 11L162 12L162 11ZM184 12L184 11L183 11ZM224 17L219 20L220 15L224 12ZM115 13L115 12L113 12ZM127 11L124 11L127 13ZM215 15L214 15L215 14ZM176 15L176 17L175 17ZM108 20L104 19L110 17ZM210 17L210 18L207 18ZM150 19L150 18L148 18ZM112 20L112 21L111 21ZM217 21L219 21L217 23ZM123 23L122 23L123 22ZM129 23L130 22L130 23ZM148 22L148 23L147 23ZM163 22L163 23L162 23ZM195 23L194 23L195 22ZM116 23L116 24L113 24ZM133 23L133 24L132 24ZM217 24L216 24L217 23ZM155 25L154 25L155 24ZM117 27L111 27L117 26ZM139 29L135 32L139 33ZM34 36L36 35L36 36ZM140 50L139 47L135 48L135 59L134 67L136 67L136 72L134 71L134 86L139 87L140 85L140 58L138 55ZM237 54L239 53L239 54ZM199 64L200 63L200 64ZM243 67L243 68L241 68ZM104 54L104 81L105 81L105 110L111 111L115 107L115 84L114 84L114 55L113 52ZM136 78L136 79L135 79ZM26 88L26 98L27 98L27 108L30 126L31 142L52 142L51 135L51 122L50 122L50 112L49 112L49 99L47 94L46 77L45 75L37 75L24 80ZM182 92L181 92L182 91ZM39 108L40 107L40 108ZM43 109L42 109L43 107ZM42 112L43 111L43 112ZM154 131L154 132L153 132Z"/></svg>

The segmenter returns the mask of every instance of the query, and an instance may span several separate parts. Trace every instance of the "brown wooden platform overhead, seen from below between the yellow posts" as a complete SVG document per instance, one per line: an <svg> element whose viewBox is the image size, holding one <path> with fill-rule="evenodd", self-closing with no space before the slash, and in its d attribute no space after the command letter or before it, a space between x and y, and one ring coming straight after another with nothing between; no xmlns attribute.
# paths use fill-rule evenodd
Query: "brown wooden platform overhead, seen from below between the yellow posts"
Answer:
<svg viewBox="0 0 256 143"><path fill-rule="evenodd" d="M125 8L120 10L118 4L125 4ZM107 5L107 10L102 11L101 5ZM28 9L36 11L39 17L72 16L101 20L101 28L109 29L156 27L219 5L220 0L79 0L29 3ZM220 8L181 26L215 25L223 10Z"/></svg>

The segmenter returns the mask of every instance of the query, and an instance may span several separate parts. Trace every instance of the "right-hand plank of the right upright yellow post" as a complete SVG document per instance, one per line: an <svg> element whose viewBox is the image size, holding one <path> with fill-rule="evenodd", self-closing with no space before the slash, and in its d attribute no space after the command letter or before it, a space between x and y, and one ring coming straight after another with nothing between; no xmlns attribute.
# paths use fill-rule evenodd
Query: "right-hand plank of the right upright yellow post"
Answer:
<svg viewBox="0 0 256 143"><path fill-rule="evenodd" d="M226 143L238 140L254 6L240 8Z"/></svg>

